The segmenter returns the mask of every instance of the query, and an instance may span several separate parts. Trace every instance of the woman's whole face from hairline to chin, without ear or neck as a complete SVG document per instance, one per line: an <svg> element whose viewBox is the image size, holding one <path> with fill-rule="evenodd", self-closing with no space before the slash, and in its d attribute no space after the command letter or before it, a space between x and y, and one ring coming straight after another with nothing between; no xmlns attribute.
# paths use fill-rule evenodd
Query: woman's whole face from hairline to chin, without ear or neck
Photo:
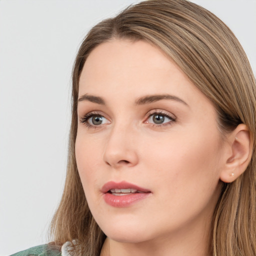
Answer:
<svg viewBox="0 0 256 256"><path fill-rule="evenodd" d="M75 155L108 237L204 231L219 196L221 152L213 105L160 50L116 39L90 53L79 80Z"/></svg>

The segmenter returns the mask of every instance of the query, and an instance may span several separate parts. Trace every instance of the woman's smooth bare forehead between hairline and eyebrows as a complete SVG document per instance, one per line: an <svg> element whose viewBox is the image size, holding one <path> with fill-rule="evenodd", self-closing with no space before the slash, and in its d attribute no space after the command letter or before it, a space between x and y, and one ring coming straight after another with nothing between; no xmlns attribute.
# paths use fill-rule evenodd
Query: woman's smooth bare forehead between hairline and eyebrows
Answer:
<svg viewBox="0 0 256 256"><path fill-rule="evenodd" d="M85 93L118 103L164 93L188 104L209 103L169 57L143 40L115 39L95 47L80 75L79 96Z"/></svg>

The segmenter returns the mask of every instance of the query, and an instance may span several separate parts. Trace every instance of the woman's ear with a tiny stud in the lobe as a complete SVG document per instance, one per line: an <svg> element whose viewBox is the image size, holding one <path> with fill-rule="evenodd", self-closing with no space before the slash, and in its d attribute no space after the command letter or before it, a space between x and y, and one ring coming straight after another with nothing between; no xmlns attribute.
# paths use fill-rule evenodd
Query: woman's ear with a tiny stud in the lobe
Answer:
<svg viewBox="0 0 256 256"><path fill-rule="evenodd" d="M229 183L240 176L249 164L252 143L250 142L249 129L245 124L239 124L227 136L228 147L224 156L224 166L220 172L220 180Z"/></svg>

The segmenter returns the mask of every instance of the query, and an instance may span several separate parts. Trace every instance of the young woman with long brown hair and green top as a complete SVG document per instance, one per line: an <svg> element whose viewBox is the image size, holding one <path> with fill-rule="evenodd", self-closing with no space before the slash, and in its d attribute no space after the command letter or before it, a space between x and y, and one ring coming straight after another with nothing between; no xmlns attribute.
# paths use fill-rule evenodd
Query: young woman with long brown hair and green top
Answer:
<svg viewBox="0 0 256 256"><path fill-rule="evenodd" d="M255 255L256 82L222 21L130 6L89 31L72 78L54 242L23 253Z"/></svg>

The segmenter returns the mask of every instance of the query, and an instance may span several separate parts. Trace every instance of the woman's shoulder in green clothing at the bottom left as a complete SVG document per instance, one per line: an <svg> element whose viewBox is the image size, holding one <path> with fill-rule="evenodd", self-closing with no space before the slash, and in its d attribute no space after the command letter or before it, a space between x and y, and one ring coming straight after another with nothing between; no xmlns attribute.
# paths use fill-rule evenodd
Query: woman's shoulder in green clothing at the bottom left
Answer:
<svg viewBox="0 0 256 256"><path fill-rule="evenodd" d="M10 256L61 256L61 250L56 246L42 244L16 252Z"/></svg>

